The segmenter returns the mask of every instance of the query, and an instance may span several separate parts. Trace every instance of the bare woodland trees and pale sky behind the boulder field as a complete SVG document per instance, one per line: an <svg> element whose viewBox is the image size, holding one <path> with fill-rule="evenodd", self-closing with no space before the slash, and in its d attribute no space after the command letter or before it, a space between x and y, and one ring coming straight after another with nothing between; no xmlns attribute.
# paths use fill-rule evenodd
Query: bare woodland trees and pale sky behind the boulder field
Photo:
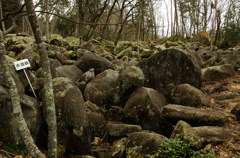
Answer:
<svg viewBox="0 0 240 158"><path fill-rule="evenodd" d="M23 3L10 1L9 6L2 1L2 19ZM196 40L200 36L224 47L240 40L239 0L36 0L35 7L47 36L57 33L84 41L101 37L115 44L176 35ZM4 22L3 30L11 25ZM31 34L27 17L19 18L18 25L17 32Z"/></svg>

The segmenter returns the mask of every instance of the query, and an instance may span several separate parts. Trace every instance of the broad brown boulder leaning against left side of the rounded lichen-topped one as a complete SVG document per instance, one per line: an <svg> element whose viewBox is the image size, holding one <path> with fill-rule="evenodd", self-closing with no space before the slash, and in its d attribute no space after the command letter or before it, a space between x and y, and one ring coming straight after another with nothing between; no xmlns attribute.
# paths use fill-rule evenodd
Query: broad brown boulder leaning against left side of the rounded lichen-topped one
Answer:
<svg viewBox="0 0 240 158"><path fill-rule="evenodd" d="M105 70L93 78L84 90L84 98L97 106L114 105L119 100L116 92L116 81L119 73L114 70Z"/></svg>

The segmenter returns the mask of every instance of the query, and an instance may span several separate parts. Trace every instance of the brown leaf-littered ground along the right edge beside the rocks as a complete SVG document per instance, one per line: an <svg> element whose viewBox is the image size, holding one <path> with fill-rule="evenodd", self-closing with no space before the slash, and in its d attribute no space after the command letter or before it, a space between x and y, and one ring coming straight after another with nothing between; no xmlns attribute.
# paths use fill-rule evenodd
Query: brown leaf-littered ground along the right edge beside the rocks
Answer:
<svg viewBox="0 0 240 158"><path fill-rule="evenodd" d="M211 97L211 108L227 114L228 121L224 124L225 128L235 130L240 133L240 121L231 113L231 110L240 104L240 71L234 76L216 82L203 82L202 90ZM231 140L227 143L213 146L212 151L217 158L239 158L240 157L240 138Z"/></svg>

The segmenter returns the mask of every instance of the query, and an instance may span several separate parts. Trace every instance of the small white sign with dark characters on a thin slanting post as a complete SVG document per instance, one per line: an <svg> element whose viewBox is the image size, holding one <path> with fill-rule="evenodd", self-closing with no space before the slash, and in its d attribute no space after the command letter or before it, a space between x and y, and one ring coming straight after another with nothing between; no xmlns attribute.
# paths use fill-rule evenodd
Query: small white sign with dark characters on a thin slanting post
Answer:
<svg viewBox="0 0 240 158"><path fill-rule="evenodd" d="M16 69L17 71L18 71L18 70L23 70L23 72L24 72L24 74L25 74L25 76L26 76L26 78L27 78L27 80L28 80L28 83L29 83L29 85L30 85L30 87L31 87L31 89L32 89L33 95L35 96L35 98L37 98L37 95L35 94L34 89L33 89L33 87L32 87L32 84L31 84L31 82L30 82L30 80L29 80L29 78L28 78L28 75L27 75L26 71L25 71L26 68L28 68L28 67L31 66L31 65L30 65L30 62L28 61L28 59L23 59L23 60L15 61L15 62L13 62L13 64L14 64L15 69Z"/></svg>

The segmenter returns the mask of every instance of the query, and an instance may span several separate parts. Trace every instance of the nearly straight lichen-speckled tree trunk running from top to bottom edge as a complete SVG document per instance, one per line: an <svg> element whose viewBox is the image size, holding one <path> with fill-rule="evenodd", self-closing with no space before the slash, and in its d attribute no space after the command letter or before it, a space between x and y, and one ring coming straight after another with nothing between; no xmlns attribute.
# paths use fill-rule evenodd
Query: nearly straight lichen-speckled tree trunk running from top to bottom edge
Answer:
<svg viewBox="0 0 240 158"><path fill-rule="evenodd" d="M28 18L33 30L33 34L40 52L42 69L44 72L44 102L47 109L47 124L48 124L48 157L57 158L57 121L52 85L52 75L50 70L50 60L47 55L46 46L43 43L41 32L38 25L38 20L33 9L32 0L25 0Z"/></svg>

